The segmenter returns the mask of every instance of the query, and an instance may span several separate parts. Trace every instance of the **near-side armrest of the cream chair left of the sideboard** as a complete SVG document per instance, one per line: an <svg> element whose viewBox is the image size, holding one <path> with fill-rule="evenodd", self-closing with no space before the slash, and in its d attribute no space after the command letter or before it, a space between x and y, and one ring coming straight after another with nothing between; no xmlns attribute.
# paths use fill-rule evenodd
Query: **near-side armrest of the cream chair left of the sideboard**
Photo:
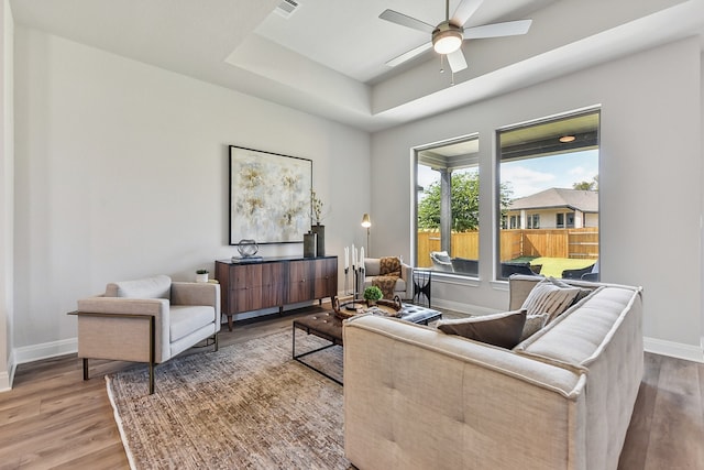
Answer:
<svg viewBox="0 0 704 470"><path fill-rule="evenodd" d="M148 361L148 323L154 317L155 361L169 353L169 302L165 298L89 297L78 300L78 357Z"/></svg>

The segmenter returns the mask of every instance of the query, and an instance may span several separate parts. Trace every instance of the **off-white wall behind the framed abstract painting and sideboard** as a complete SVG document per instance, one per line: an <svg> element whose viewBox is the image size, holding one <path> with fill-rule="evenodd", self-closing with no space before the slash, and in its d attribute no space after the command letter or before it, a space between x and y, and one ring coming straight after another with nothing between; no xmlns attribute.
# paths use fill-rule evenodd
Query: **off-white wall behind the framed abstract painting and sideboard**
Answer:
<svg viewBox="0 0 704 470"><path fill-rule="evenodd" d="M66 313L110 281L237 254L229 144L311 159L327 253L363 242L367 133L19 25L15 46L19 362L75 348Z"/></svg>

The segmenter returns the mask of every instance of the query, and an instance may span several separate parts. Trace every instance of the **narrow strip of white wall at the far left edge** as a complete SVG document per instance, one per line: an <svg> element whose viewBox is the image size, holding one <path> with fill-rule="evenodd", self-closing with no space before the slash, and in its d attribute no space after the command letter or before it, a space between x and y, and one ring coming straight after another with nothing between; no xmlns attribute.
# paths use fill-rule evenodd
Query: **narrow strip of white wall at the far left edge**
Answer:
<svg viewBox="0 0 704 470"><path fill-rule="evenodd" d="M12 383L13 34L10 1L0 3L0 391Z"/></svg>

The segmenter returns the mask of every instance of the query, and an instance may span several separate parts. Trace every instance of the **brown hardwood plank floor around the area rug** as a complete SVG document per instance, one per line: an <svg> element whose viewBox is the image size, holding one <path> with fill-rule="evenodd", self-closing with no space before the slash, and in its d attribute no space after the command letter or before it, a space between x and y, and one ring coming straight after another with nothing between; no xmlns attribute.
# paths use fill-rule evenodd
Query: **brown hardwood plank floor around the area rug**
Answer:
<svg viewBox="0 0 704 470"><path fill-rule="evenodd" d="M226 326L220 346L288 329L315 309ZM75 354L20 365L0 393L0 469L128 469L102 379L128 367L91 361L85 382ZM704 469L704 364L646 353L619 469L666 468Z"/></svg>

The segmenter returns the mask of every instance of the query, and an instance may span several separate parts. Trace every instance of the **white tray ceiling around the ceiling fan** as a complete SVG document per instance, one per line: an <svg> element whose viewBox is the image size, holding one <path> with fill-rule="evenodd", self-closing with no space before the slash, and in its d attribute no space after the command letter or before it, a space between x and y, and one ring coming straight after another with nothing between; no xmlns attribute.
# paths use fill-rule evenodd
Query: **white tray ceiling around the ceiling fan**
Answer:
<svg viewBox="0 0 704 470"><path fill-rule="evenodd" d="M18 24L67 37L367 131L468 105L690 35L704 0L485 0L468 26L530 18L524 36L465 41L469 68L440 74L427 41L378 19L393 9L427 23L442 0L11 0ZM452 13L459 0L450 1ZM704 43L702 43L704 45Z"/></svg>

